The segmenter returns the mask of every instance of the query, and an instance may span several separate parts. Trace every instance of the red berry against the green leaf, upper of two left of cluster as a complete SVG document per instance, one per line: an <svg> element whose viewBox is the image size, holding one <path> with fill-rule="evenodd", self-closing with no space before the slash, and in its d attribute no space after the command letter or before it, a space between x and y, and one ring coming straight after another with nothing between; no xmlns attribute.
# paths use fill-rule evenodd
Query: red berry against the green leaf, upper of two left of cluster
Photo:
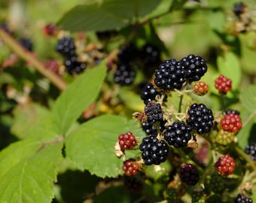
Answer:
<svg viewBox="0 0 256 203"><path fill-rule="evenodd" d="M118 136L118 143L121 150L132 150L133 147L137 145L136 137L132 132L126 132L125 134L120 134Z"/></svg>

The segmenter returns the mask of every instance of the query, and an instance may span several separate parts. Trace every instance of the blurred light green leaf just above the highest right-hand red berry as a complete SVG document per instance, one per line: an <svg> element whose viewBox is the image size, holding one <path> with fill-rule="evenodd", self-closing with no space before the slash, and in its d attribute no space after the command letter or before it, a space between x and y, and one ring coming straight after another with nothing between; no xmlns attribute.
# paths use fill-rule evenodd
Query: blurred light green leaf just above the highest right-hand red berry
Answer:
<svg viewBox="0 0 256 203"><path fill-rule="evenodd" d="M232 80L232 89L239 89L241 82L241 67L239 59L232 52L227 52L224 56L217 58L218 71L225 77Z"/></svg>

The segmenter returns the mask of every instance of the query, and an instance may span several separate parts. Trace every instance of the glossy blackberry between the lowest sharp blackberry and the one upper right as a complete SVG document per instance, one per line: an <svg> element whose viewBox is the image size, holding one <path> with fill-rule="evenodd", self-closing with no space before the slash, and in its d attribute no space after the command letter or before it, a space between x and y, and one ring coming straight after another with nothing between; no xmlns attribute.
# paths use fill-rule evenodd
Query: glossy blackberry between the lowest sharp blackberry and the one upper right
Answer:
<svg viewBox="0 0 256 203"><path fill-rule="evenodd" d="M187 147L187 142L191 139L191 130L185 123L175 121L171 126L166 126L164 139L174 147Z"/></svg>

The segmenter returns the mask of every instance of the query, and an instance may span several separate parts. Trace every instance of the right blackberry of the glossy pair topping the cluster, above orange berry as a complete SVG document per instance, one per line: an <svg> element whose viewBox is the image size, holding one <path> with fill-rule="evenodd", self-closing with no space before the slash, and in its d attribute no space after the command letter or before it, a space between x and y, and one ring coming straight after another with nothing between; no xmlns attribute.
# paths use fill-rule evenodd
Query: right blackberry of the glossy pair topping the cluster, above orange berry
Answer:
<svg viewBox="0 0 256 203"><path fill-rule="evenodd" d="M186 78L189 83L200 80L207 71L206 60L201 56L194 56L193 54L190 54L179 62L186 70Z"/></svg>

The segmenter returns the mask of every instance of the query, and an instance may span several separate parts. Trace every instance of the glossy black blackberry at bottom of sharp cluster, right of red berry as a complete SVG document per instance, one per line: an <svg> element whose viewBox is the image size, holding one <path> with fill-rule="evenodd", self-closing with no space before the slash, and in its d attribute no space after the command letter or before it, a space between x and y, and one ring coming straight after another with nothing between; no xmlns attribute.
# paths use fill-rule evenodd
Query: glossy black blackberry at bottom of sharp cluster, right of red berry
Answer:
<svg viewBox="0 0 256 203"><path fill-rule="evenodd" d="M161 162L166 161L169 153L169 147L166 142L159 141L152 135L142 139L139 150L142 151L142 159L145 165L160 165Z"/></svg>

